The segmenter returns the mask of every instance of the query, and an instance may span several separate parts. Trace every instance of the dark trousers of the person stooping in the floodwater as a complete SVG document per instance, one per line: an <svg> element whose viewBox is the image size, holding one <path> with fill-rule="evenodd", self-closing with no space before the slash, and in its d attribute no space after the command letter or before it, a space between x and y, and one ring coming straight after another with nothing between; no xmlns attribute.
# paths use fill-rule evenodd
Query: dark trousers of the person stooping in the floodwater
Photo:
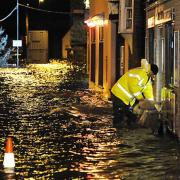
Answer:
<svg viewBox="0 0 180 180"><path fill-rule="evenodd" d="M119 98L111 94L111 99L113 103L113 125L116 124L131 124L131 122L136 121L136 115L133 114L131 106L126 105Z"/></svg>

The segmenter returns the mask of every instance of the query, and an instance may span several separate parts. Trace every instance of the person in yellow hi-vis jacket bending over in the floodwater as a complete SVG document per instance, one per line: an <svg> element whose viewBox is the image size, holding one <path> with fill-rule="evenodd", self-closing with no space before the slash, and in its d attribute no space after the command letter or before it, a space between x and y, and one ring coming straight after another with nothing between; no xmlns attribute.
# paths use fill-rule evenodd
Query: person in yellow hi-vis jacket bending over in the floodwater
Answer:
<svg viewBox="0 0 180 180"><path fill-rule="evenodd" d="M147 62L147 61L146 61ZM158 73L155 64L146 64L126 72L112 87L113 124L132 124L137 121L133 108L140 101L154 104L152 82Z"/></svg>

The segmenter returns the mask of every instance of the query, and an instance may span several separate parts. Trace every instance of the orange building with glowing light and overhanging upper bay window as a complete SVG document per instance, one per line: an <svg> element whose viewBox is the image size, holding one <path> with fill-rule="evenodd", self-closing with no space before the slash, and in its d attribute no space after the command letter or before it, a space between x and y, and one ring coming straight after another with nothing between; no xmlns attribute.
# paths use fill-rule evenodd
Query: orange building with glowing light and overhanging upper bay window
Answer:
<svg viewBox="0 0 180 180"><path fill-rule="evenodd" d="M89 88L110 98L110 89L144 58L141 0L90 0L87 30Z"/></svg>

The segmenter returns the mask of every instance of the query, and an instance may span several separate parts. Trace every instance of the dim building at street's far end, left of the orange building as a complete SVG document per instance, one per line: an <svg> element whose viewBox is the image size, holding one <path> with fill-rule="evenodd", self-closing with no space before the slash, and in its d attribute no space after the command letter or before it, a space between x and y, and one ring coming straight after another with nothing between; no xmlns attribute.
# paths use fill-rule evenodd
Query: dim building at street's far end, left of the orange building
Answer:
<svg viewBox="0 0 180 180"><path fill-rule="evenodd" d="M71 0L71 27L62 39L62 58L75 64L86 63L85 2Z"/></svg>

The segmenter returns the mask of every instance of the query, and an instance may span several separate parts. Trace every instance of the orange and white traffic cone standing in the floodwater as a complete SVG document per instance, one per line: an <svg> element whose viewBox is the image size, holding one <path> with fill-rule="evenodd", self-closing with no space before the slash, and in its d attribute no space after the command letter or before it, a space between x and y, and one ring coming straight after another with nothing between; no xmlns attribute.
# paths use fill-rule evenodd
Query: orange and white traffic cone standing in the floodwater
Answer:
<svg viewBox="0 0 180 180"><path fill-rule="evenodd" d="M6 140L6 151L4 154L3 165L4 165L4 168L14 168L15 167L12 137L8 137Z"/></svg>

